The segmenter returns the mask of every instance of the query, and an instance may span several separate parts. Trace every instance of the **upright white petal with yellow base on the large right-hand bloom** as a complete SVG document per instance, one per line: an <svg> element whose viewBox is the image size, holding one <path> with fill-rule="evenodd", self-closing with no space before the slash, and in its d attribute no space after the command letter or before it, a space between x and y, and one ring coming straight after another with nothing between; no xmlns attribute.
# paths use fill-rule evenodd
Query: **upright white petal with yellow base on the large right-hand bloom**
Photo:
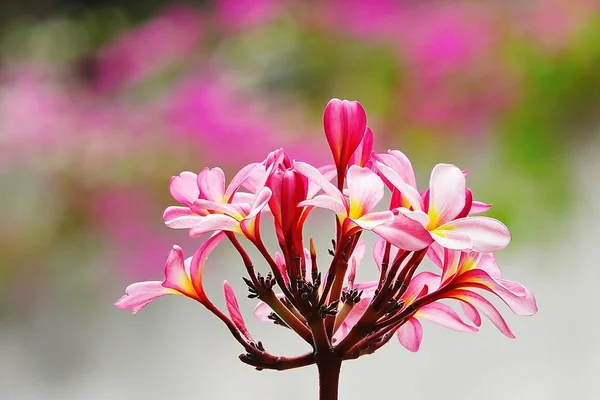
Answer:
<svg viewBox="0 0 600 400"><path fill-rule="evenodd" d="M429 228L435 229L452 221L465 207L467 181L452 164L438 164L429 180Z"/></svg>

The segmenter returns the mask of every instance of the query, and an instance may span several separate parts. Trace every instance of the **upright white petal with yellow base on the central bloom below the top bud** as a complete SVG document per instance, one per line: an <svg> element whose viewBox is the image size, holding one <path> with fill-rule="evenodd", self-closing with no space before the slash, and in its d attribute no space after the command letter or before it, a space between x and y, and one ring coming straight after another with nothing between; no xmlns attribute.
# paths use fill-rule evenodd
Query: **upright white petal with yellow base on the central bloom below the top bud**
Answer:
<svg viewBox="0 0 600 400"><path fill-rule="evenodd" d="M350 218L371 212L384 196L383 181L369 168L353 165L346 174Z"/></svg>

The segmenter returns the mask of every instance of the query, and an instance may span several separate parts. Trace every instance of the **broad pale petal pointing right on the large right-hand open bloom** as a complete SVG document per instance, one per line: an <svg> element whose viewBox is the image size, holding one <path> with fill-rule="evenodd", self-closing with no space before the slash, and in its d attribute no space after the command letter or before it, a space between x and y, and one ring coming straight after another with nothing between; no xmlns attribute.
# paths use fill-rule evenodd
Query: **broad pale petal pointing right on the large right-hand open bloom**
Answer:
<svg viewBox="0 0 600 400"><path fill-rule="evenodd" d="M472 249L481 253L502 250L510 243L510 232L502 222L489 217L466 217L451 221L438 230L460 232L473 241Z"/></svg>

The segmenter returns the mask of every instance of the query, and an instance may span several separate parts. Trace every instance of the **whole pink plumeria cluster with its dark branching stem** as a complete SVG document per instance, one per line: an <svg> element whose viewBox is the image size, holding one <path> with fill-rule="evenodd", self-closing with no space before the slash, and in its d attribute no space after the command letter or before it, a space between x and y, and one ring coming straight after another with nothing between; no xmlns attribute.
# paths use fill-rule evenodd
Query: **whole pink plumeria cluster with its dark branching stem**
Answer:
<svg viewBox="0 0 600 400"><path fill-rule="evenodd" d="M189 258L175 246L166 262L165 280L129 286L116 306L137 312L167 294L190 297L227 325L245 349L240 356L244 363L277 370L317 364L321 398L336 398L331 393L337 386L332 385L337 385L343 360L373 353L394 336L417 351L422 320L474 332L482 313L504 335L514 337L481 292L499 297L519 315L534 314L536 302L527 288L502 278L492 253L508 245L510 233L501 222L476 215L490 205L473 199L466 172L438 164L429 187L419 190L403 153L373 152L373 132L358 102L331 100L324 130L333 165L317 168L292 161L280 149L242 168L228 185L219 168L173 177L170 191L181 205L165 210L166 225L208 239ZM314 240L303 236L305 221L316 208L335 214L336 234L326 269L320 268L324 261L317 257ZM263 218L273 221L276 254L261 238ZM379 279L359 282L357 269L367 252L362 236L368 232L377 237L372 253ZM297 357L267 352L248 331L227 282L227 313L208 299L203 269L224 240L243 260L248 297L258 300L255 316L294 331L311 351ZM255 271L242 242L264 258L270 269L266 275ZM426 257L437 270L419 271ZM442 300L458 301L463 316Z"/></svg>

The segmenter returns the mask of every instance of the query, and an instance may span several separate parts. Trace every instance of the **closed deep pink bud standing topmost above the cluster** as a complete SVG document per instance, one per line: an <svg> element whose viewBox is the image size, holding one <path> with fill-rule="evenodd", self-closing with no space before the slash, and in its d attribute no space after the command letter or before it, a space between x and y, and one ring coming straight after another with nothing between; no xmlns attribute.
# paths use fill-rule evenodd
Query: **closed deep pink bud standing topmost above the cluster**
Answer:
<svg viewBox="0 0 600 400"><path fill-rule="evenodd" d="M365 134L367 114L356 101L331 99L325 107L323 126L338 171L343 172Z"/></svg>

